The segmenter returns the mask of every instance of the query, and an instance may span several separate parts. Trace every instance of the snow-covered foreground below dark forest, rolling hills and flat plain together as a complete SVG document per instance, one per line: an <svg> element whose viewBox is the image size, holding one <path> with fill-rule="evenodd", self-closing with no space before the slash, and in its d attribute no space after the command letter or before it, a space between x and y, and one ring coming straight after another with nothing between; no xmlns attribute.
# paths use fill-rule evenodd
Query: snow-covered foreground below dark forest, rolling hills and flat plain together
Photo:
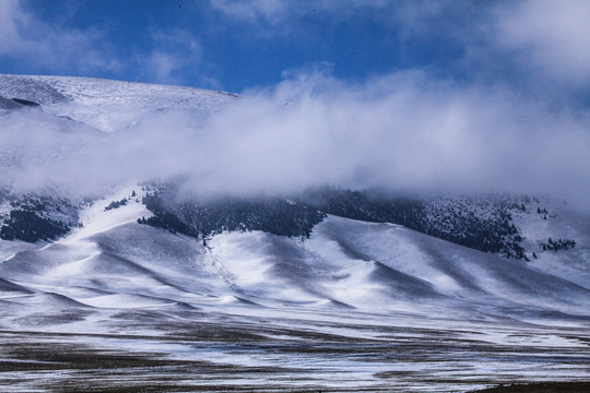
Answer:
<svg viewBox="0 0 590 393"><path fill-rule="evenodd" d="M203 246L138 224L141 194L105 211L133 190L59 241L0 243L0 385L461 392L590 378L583 281L333 216L305 241Z"/></svg>

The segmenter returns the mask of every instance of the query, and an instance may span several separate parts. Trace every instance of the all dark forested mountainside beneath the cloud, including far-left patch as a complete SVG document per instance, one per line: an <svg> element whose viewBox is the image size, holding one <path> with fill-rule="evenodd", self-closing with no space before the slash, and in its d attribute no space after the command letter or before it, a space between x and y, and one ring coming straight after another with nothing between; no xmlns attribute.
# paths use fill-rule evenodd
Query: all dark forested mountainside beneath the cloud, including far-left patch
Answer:
<svg viewBox="0 0 590 393"><path fill-rule="evenodd" d="M539 250L526 249L512 214L532 211L533 206L510 196L421 199L323 188L292 198L190 200L179 194L178 188L172 183L144 188L149 193L142 202L153 216L139 218L140 224L201 238L203 242L223 231L261 230L308 238L314 226L330 214L363 222L398 224L505 258L530 260L536 258L539 251L567 250L576 245L575 239L566 239L562 241L566 246L559 248L544 245ZM13 194L4 189L1 200L10 206L0 215L0 238L4 240L52 240L80 225L76 204L67 199ZM126 203L127 200L113 201L107 210Z"/></svg>

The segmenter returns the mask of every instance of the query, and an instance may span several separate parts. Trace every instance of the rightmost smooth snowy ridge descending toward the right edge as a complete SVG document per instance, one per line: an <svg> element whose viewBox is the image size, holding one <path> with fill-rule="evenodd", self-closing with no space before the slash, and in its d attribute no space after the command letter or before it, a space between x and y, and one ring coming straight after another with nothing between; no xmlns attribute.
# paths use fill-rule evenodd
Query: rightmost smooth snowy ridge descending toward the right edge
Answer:
<svg viewBox="0 0 590 393"><path fill-rule="evenodd" d="M499 259L400 226L334 218L320 224L317 233L326 233L365 260L425 281L447 296L473 301L480 294L548 308L555 302L588 305L588 288L531 270L518 260Z"/></svg>

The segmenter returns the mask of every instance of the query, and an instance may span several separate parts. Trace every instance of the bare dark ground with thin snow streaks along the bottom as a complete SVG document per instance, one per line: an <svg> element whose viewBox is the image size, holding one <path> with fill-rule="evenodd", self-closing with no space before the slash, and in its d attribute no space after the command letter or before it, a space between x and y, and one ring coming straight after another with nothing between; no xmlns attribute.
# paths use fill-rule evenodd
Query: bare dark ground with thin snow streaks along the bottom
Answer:
<svg viewBox="0 0 590 393"><path fill-rule="evenodd" d="M0 390L455 393L504 383L477 392L590 392L583 346L502 346L464 332L394 326L357 325L379 335L354 338L234 322L163 325L161 334L145 335L1 331ZM527 381L519 368L577 377L511 385Z"/></svg>

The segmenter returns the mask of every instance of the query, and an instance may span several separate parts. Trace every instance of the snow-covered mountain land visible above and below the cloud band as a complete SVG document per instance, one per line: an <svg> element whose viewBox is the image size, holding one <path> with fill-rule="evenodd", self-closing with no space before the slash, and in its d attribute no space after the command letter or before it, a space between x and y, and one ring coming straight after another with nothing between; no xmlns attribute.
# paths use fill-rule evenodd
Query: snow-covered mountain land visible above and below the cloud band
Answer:
<svg viewBox="0 0 590 393"><path fill-rule="evenodd" d="M87 134L141 127L146 111L206 116L239 99L17 75L0 75L0 122L22 124L22 111L27 127L80 141L81 154ZM23 140L0 141L4 168L36 157L20 153ZM43 148L43 163L61 157L58 144ZM558 201L330 188L197 201L153 179L68 196L2 180L0 383L14 391L457 392L588 380L590 217ZM485 248L495 237L505 249Z"/></svg>

